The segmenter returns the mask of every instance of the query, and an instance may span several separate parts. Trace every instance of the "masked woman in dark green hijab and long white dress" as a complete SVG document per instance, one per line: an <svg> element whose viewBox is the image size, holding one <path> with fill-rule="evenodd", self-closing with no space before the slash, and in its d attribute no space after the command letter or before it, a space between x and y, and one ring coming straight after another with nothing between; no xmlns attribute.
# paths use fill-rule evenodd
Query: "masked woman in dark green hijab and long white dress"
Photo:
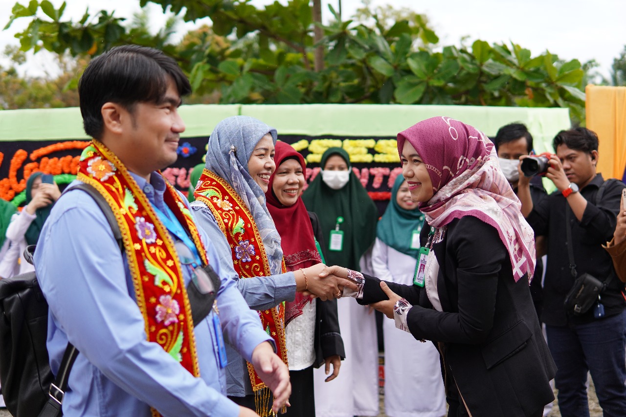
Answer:
<svg viewBox="0 0 626 417"><path fill-rule="evenodd" d="M376 238L376 205L352 172L346 150L329 148L320 166L322 170L302 194L302 201L319 217L328 242L326 264L371 270L369 253ZM337 310L346 359L332 384L324 384L323 371L314 371L316 413L327 417L376 416L378 349L374 314L347 298L337 300Z"/></svg>

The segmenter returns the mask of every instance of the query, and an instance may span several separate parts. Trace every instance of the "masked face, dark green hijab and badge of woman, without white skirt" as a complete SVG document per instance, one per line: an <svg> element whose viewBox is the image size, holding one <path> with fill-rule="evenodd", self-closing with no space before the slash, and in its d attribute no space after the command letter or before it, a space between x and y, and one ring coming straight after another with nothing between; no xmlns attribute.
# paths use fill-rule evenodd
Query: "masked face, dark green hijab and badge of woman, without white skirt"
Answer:
<svg viewBox="0 0 626 417"><path fill-rule="evenodd" d="M302 201L319 217L328 242L326 264L361 270L359 260L376 238L378 209L352 172L346 150L327 149L320 166ZM335 233L336 229L342 234Z"/></svg>

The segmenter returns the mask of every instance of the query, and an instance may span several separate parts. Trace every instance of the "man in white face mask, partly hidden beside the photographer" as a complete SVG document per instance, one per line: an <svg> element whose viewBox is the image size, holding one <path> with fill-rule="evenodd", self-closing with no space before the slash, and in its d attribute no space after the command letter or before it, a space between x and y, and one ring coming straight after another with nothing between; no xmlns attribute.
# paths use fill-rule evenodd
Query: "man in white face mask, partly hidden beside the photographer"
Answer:
<svg viewBox="0 0 626 417"><path fill-rule="evenodd" d="M517 184L520 180L520 157L529 155L533 150L533 136L530 134L525 125L521 123L511 123L498 129L496 137L493 140L498 153L498 162L500 168L508 182L511 184L513 191L517 193ZM540 202L546 197L546 191L541 184L541 177L533 177L530 183L530 195L533 203ZM537 316L541 317L541 304L543 296L541 294L541 276L543 275L543 262L541 255L545 253L543 250L543 237L536 239L537 245L537 264L535 268L535 277L530 284L530 293L533 297Z"/></svg>

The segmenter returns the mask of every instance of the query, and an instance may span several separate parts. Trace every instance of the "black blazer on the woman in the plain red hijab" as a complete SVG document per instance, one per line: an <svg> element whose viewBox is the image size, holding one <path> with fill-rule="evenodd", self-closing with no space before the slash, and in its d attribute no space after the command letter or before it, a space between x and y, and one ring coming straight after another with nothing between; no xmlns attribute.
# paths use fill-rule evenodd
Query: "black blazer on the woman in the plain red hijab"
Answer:
<svg viewBox="0 0 626 417"><path fill-rule="evenodd" d="M324 253L324 235L317 214L308 212L313 234ZM339 316L337 315L337 300L316 301L316 321L315 321L315 341L314 348L316 353L316 361L314 366L319 368L324 364L325 359L329 356L339 355L341 359L346 358L346 350L344 349L344 341L339 331Z"/></svg>

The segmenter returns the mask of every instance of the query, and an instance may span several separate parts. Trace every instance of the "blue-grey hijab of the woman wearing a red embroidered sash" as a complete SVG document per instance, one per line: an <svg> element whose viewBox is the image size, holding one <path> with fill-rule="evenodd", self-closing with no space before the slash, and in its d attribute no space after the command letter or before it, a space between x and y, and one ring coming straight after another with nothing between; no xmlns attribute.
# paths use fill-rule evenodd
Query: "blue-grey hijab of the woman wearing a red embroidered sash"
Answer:
<svg viewBox="0 0 626 417"><path fill-rule="evenodd" d="M205 168L222 177L247 205L263 240L272 275L282 272L280 235L265 204L265 193L250 176L248 160L263 136L276 129L249 116L231 116L220 121L208 138Z"/></svg>

